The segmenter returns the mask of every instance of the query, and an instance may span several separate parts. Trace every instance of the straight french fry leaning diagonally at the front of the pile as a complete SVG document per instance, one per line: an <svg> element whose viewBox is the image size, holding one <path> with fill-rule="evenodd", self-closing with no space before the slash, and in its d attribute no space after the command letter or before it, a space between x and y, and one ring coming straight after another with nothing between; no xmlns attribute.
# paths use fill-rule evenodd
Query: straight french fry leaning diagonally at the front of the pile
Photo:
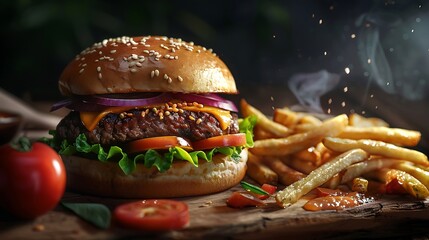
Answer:
<svg viewBox="0 0 429 240"><path fill-rule="evenodd" d="M335 174L344 170L353 163L364 161L368 154L361 149L353 149L345 152L335 159L323 164L311 172L307 177L287 186L279 191L275 198L279 206L285 208L298 201L299 198L322 185Z"/></svg>

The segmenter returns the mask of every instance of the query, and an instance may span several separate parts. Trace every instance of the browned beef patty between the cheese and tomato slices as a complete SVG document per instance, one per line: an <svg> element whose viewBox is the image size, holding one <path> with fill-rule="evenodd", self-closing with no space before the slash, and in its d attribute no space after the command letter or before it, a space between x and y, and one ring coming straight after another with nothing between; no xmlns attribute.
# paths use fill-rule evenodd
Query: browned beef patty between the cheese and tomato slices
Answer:
<svg viewBox="0 0 429 240"><path fill-rule="evenodd" d="M151 109L152 110L152 109ZM219 121L206 112L183 110L160 116L148 109L130 110L125 113L106 115L97 127L89 131L83 125L79 112L71 111L57 126L61 139L74 142L79 134L86 135L88 143L120 145L141 138L156 136L180 136L190 141L238 133L237 114L231 113L232 123L222 130Z"/></svg>

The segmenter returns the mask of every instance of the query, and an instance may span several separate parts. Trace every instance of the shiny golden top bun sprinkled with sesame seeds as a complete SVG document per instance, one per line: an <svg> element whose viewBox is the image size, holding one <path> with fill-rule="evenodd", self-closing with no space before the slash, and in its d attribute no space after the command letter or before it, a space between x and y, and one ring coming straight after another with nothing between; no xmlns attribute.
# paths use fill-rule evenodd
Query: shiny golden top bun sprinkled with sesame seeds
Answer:
<svg viewBox="0 0 429 240"><path fill-rule="evenodd" d="M234 78L222 60L181 39L105 39L83 50L59 80L63 95L131 92L231 93Z"/></svg>

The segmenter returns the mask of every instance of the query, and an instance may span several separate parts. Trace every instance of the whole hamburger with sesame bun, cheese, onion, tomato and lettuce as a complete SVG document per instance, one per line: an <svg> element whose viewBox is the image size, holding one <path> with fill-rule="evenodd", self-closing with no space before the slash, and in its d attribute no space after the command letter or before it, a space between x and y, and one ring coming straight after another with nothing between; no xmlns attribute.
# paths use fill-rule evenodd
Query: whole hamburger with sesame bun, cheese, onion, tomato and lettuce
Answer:
<svg viewBox="0 0 429 240"><path fill-rule="evenodd" d="M64 69L51 131L68 188L118 198L226 190L246 171L252 119L239 119L234 78L211 49L181 39L103 40ZM240 122L240 123L239 123Z"/></svg>

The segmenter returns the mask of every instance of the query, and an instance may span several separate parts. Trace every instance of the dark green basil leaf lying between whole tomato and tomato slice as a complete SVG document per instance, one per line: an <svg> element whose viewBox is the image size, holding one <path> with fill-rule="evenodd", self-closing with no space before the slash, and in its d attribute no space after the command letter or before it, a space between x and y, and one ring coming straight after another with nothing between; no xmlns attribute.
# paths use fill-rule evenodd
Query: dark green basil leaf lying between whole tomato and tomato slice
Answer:
<svg viewBox="0 0 429 240"><path fill-rule="evenodd" d="M110 226L112 215L109 208L103 204L64 202L61 202L61 204L83 220L92 223L99 228L107 229Z"/></svg>

